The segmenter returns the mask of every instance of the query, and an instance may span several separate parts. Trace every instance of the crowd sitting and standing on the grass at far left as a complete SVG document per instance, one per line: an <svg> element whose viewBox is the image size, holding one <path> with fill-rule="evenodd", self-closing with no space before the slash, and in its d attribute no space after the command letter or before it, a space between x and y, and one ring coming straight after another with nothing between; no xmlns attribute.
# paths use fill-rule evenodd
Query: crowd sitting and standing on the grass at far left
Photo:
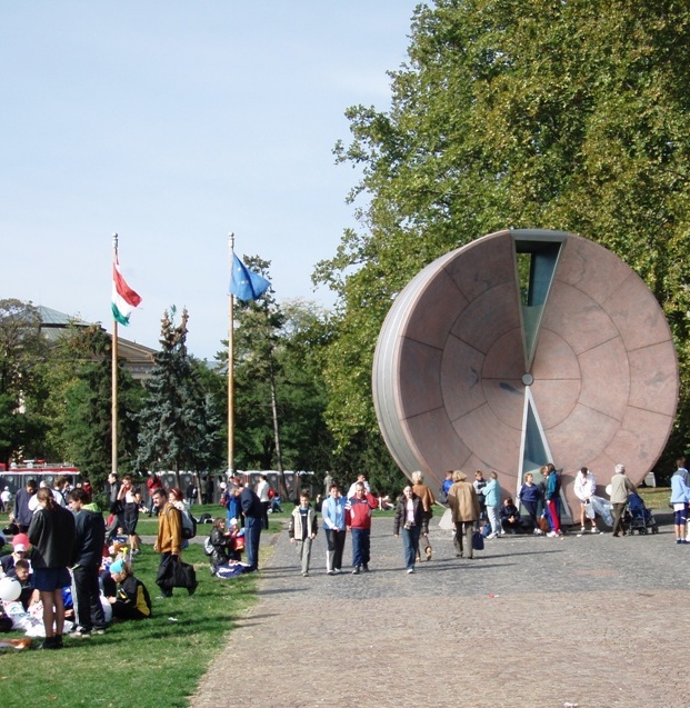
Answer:
<svg viewBox="0 0 690 708"><path fill-rule="evenodd" d="M137 523L146 507L132 478L108 477L108 520L89 486L70 489L68 482L58 477L52 487L37 487L30 479L18 490L12 551L0 559L3 614L14 629L42 637L42 649L61 649L66 634L89 638L112 621L152 615L149 590L133 570L141 542ZM170 597L176 587L193 595L194 569L181 560L189 542L183 493L160 483L149 489L151 511L158 515L159 597Z"/></svg>

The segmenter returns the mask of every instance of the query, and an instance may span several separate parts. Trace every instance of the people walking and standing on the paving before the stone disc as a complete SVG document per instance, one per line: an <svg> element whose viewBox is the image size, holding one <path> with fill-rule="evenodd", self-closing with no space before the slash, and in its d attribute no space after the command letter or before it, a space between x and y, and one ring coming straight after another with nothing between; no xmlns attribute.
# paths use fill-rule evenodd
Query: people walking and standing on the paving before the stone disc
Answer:
<svg viewBox="0 0 690 708"><path fill-rule="evenodd" d="M678 467L671 480L672 502L677 507L677 542L690 544L684 536L690 503L690 476L684 469L684 458L678 460ZM526 473L514 498L503 492L496 471L484 477L483 471L477 470L472 481L460 470L449 470L444 477L437 500L434 492L424 485L423 473L413 472L411 483L402 489L400 497L391 505L394 509L393 534L402 539L408 574L416 572L422 554L428 561L433 557L429 522L434 506L447 507L444 512L450 517L458 558L474 558L477 535L486 540L517 534L563 538L561 475L553 465L542 466L538 480L536 473ZM341 492L330 475L326 483L326 493L317 498L313 508L309 492L302 491L290 519L288 534L290 542L297 547L301 572L303 576L309 575L312 542L319 530L319 521L326 534L326 572L336 575L342 571L348 535L352 545L351 572L367 572L371 560L372 511L383 508L382 498L372 493L364 475L360 475L346 493ZM593 472L587 467L578 470L573 481L573 492L579 503L576 515L580 525L578 536L600 534L597 520L601 518L601 523L611 527L612 536L618 538L627 532L624 513L629 500L634 499L642 508L643 502L627 477L623 465L616 466L611 483L607 487L608 500L597 496L597 489ZM317 511L321 512L320 519ZM644 512L649 515L646 509Z"/></svg>

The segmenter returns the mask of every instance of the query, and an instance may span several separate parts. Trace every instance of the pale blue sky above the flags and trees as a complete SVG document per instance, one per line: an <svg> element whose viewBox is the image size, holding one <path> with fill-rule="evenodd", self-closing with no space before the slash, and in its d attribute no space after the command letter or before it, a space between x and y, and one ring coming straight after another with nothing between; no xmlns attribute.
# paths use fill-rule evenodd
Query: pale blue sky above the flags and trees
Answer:
<svg viewBox="0 0 690 708"><path fill-rule="evenodd" d="M188 349L228 335L229 233L276 298L314 290L358 172L332 153L348 107L390 106L418 0L0 3L0 298L112 331L112 235L142 298L120 336Z"/></svg>

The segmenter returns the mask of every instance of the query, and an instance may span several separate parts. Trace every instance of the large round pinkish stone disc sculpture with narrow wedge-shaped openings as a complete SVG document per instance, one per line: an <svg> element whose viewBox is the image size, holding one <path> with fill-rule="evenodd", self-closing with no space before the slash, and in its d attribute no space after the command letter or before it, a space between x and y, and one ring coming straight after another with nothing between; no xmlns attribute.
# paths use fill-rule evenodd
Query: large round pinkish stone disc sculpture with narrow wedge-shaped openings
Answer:
<svg viewBox="0 0 690 708"><path fill-rule="evenodd" d="M673 425L678 365L661 308L617 256L573 233L500 231L400 292L373 400L408 476L438 488L447 470L496 470L512 495L553 461L572 505L582 466L600 487L618 462L642 481Z"/></svg>

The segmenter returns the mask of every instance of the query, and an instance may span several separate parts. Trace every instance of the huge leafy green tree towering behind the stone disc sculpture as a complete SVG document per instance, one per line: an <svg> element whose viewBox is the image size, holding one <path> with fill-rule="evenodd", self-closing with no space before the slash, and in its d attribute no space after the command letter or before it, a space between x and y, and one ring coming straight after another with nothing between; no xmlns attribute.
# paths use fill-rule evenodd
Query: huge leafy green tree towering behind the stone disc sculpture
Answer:
<svg viewBox="0 0 690 708"><path fill-rule="evenodd" d="M438 0L419 6L386 112L348 111L366 196L316 281L340 296L326 377L344 448L377 435L370 371L392 299L426 265L507 227L580 232L647 281L676 337L690 441L690 6ZM672 452L669 452L669 456ZM666 458L662 459L666 463Z"/></svg>

